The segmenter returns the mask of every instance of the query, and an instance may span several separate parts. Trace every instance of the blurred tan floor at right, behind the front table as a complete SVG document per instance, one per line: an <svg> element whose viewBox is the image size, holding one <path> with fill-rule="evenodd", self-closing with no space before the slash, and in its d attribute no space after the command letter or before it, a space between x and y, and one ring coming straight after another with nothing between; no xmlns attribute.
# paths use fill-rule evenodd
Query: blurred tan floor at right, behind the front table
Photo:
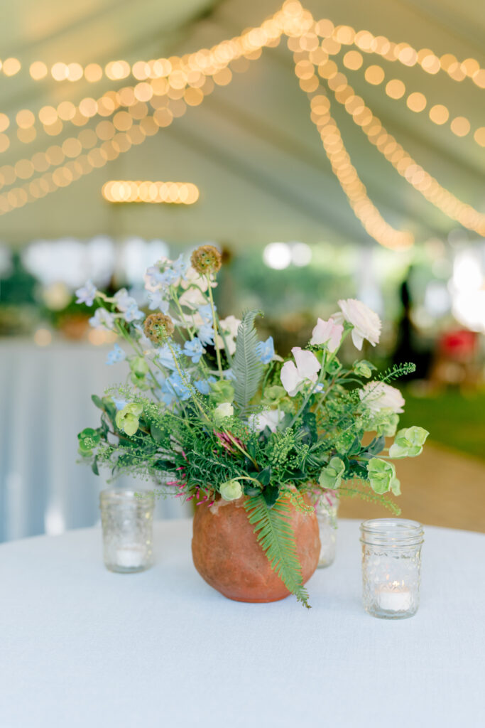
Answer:
<svg viewBox="0 0 485 728"><path fill-rule="evenodd" d="M485 462L435 444L417 458L396 462L402 518L429 526L485 532ZM380 505L343 498L342 518L390 518Z"/></svg>

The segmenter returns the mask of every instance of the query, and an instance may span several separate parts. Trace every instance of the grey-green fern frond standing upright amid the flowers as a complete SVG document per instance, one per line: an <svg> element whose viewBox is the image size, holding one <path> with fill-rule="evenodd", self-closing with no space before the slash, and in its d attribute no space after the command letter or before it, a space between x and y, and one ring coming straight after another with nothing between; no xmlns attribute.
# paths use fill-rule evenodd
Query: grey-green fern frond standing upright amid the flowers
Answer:
<svg viewBox="0 0 485 728"><path fill-rule="evenodd" d="M233 356L232 371L234 381L234 400L239 405L241 414L245 414L249 402L260 386L263 365L257 355L257 333L254 319L259 311L248 311L239 324L236 339L236 352Z"/></svg>

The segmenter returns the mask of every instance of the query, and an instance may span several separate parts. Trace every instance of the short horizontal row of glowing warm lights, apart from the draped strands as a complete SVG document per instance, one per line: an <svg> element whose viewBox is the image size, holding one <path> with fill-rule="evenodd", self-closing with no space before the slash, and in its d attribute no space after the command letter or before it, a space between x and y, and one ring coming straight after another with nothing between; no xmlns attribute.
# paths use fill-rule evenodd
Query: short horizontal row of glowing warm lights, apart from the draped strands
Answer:
<svg viewBox="0 0 485 728"><path fill-rule="evenodd" d="M111 180L103 185L102 194L108 202L193 205L199 199L199 188L191 182Z"/></svg>

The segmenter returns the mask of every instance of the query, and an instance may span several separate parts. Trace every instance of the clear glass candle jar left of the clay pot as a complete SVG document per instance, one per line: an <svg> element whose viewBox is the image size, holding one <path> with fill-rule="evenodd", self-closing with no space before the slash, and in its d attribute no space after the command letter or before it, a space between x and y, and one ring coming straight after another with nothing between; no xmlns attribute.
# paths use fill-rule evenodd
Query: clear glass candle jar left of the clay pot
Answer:
<svg viewBox="0 0 485 728"><path fill-rule="evenodd" d="M153 563L153 491L100 493L105 566L120 574L144 571Z"/></svg>

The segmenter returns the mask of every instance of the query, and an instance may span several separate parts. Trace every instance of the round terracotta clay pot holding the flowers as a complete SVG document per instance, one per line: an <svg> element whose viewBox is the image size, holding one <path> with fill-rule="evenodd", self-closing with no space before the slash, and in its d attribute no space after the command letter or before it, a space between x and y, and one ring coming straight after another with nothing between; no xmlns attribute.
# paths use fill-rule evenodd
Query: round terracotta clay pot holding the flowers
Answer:
<svg viewBox="0 0 485 728"><path fill-rule="evenodd" d="M244 496L217 500L196 507L192 556L199 574L221 594L235 601L268 602L289 595L271 569L244 510ZM291 524L302 567L303 583L318 565L320 538L315 513L302 513L290 505Z"/></svg>

